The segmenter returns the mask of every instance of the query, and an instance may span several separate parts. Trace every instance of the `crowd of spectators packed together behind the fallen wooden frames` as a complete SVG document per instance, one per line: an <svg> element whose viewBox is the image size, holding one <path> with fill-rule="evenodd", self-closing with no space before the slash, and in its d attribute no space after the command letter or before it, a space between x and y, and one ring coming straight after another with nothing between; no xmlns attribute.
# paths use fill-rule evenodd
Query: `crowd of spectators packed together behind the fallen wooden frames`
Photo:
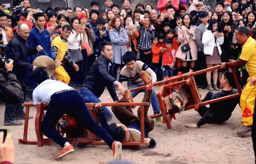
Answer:
<svg viewBox="0 0 256 164"><path fill-rule="evenodd" d="M125 65L123 55L133 51L161 81L179 71L198 71L239 59L242 47L234 37L238 26L250 28L256 39L252 0L217 1L215 8L204 0L159 0L156 8L151 4L131 8L130 0L123 0L122 6L105 0L104 5L104 10L99 10L102 6L92 1L89 9L76 6L41 11L30 6L30 0L14 0L9 8L0 6L0 55L14 60L14 73L24 93L28 87L36 87L30 73L32 62L40 55L56 62L53 78L66 84L70 79L82 83L101 55L100 43L110 41L114 65L109 70L115 79ZM218 91L223 71L197 76L198 87ZM243 87L248 78L246 67L238 69L237 75ZM6 108L6 121L13 119L11 109L22 109L8 103ZM24 117L24 112L16 111Z"/></svg>

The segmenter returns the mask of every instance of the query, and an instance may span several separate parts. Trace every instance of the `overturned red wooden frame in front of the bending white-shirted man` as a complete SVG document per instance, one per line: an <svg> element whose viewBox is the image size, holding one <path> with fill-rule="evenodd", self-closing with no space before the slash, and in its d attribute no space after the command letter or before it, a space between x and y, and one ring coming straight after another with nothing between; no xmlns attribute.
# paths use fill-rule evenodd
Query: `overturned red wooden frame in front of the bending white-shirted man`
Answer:
<svg viewBox="0 0 256 164"><path fill-rule="evenodd" d="M90 111L90 114L94 118L94 121L98 123L96 120L96 111L94 110L94 107L97 103L85 103L85 105L88 107L88 110ZM148 145L148 142L144 141L144 106L148 105L148 103L101 103L103 107L112 107L112 106L140 106L141 113L140 113L140 131L141 131L141 138L140 142L122 142L122 145L124 146L140 146ZM22 142L23 144L37 144L37 146L44 146L44 144L51 145L56 144L53 140L50 140L49 138L43 138L43 134L41 131L41 125L42 125L42 118L44 116L44 111L47 110L48 105L44 103L38 103L37 105L27 103L22 104L23 107L26 107L25 112L25 123L24 123L24 133L23 133L23 139L19 139L19 142ZM35 118L35 130L36 130L36 137L37 141L29 141L28 140L28 117L29 117L29 111L30 107L36 107L36 118ZM98 123L99 124L99 123ZM85 132L84 134L87 134L86 138L66 138L70 143L78 143L78 144L89 144L89 145L106 145L104 141L101 141L101 139L96 136L95 134L92 134L91 132Z"/></svg>

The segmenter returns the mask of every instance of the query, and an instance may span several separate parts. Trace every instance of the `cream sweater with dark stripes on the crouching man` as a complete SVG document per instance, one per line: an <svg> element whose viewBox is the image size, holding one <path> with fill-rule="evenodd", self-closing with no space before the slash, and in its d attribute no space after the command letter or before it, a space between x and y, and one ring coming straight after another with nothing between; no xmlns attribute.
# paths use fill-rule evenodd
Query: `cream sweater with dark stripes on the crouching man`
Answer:
<svg viewBox="0 0 256 164"><path fill-rule="evenodd" d="M148 73L150 80L154 83L156 82L156 73L148 67L142 61L136 61L136 68L134 71L130 71L126 66L124 66L120 72L119 82L122 83L123 81L129 80L130 83L135 83L138 85L144 85L144 81L140 78L140 71L146 71Z"/></svg>

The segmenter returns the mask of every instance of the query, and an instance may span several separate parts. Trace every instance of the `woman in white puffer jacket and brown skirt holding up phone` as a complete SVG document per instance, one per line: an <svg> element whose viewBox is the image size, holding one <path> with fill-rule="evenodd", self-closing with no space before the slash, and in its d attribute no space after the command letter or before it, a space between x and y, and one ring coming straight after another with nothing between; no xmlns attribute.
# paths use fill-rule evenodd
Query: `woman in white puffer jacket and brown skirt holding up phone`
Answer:
<svg viewBox="0 0 256 164"><path fill-rule="evenodd" d="M218 33L218 21L210 20L208 27L202 37L204 44L204 54L206 55L207 68L219 65L221 63L220 55L222 53L220 45L224 43L224 34ZM211 73L206 73L206 80L208 83L207 89L210 91L219 91L217 87L218 69L213 70L213 87L211 85Z"/></svg>

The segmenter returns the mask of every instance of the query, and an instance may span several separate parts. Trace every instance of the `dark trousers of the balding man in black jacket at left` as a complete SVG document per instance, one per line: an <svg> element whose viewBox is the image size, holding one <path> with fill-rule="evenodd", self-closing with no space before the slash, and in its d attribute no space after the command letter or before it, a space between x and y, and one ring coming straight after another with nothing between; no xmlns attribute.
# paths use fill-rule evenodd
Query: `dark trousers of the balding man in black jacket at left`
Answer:
<svg viewBox="0 0 256 164"><path fill-rule="evenodd" d="M26 86L22 85L22 91L24 93L24 100L26 98ZM23 100L23 102L24 102ZM23 103L22 102L22 103ZM16 120L16 117L24 117L25 112L23 111L22 103L20 104L5 104L4 121Z"/></svg>

